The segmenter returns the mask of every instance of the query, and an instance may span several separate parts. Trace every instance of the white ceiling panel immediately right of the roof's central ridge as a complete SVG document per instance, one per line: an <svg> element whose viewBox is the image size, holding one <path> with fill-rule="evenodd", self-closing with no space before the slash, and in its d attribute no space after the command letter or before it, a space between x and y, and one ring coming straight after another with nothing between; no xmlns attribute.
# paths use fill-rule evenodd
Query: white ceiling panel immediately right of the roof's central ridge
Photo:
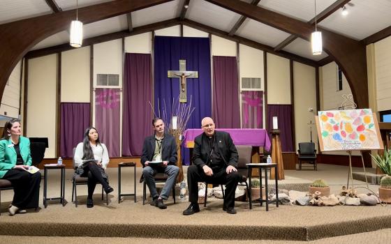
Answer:
<svg viewBox="0 0 391 244"><path fill-rule="evenodd" d="M233 28L240 16L204 0L190 1L189 9L186 12L187 19L226 32Z"/></svg>

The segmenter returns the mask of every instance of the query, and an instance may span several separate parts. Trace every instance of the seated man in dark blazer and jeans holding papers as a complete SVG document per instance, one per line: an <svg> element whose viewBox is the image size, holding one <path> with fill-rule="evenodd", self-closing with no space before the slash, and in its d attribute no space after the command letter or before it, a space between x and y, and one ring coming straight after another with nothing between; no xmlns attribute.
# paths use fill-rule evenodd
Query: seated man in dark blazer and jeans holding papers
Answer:
<svg viewBox="0 0 391 244"><path fill-rule="evenodd" d="M152 195L152 206L161 209L167 208L163 200L167 200L170 195L172 186L175 184L179 168L177 164L177 144L175 138L170 134L164 133L164 123L160 118L155 118L152 121L154 127L154 135L145 138L142 146L141 163L142 174L144 181L147 183L149 192ZM168 175L165 185L158 195L154 176L157 173L165 173Z"/></svg>

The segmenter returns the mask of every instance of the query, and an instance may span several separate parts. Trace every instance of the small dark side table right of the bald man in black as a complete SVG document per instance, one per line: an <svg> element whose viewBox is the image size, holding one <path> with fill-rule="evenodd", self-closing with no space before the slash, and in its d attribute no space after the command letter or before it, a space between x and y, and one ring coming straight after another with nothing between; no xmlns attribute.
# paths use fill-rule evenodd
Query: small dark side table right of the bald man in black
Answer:
<svg viewBox="0 0 391 244"><path fill-rule="evenodd" d="M276 202L277 208L279 207L279 183L278 183L278 178L279 178L279 167L277 167L277 164L272 163L272 164L266 164L266 163L251 163L251 164L246 164L248 167L248 178L249 178L249 201L250 201L250 209L253 208L252 203L251 203L251 172L253 169L259 169L259 181L260 181L260 206L263 206L263 202L265 201L266 203L266 211L269 211L269 204L272 204ZM268 184L267 184L267 169L276 169L276 199L269 201L269 197L267 196L268 194ZM263 195L262 195L262 170L265 171L265 193L266 193L266 199L263 200Z"/></svg>

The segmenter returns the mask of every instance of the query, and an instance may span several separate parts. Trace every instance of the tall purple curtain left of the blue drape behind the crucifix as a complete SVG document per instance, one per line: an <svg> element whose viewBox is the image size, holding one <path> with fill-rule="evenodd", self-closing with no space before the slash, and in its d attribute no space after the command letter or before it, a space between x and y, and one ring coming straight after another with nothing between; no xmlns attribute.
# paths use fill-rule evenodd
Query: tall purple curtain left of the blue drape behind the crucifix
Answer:
<svg viewBox="0 0 391 244"><path fill-rule="evenodd" d="M152 134L151 54L125 54L122 155L139 156L142 143Z"/></svg>

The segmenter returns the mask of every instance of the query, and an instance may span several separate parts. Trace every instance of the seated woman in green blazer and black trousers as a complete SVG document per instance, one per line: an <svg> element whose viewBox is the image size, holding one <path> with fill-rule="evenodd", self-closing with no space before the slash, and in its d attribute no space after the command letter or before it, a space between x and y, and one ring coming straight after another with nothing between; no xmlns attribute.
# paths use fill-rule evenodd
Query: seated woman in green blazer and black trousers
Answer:
<svg viewBox="0 0 391 244"><path fill-rule="evenodd" d="M30 174L24 169L31 166L30 140L21 136L20 121L11 119L4 125L0 139L0 178L13 185L10 215L26 213L27 208L38 208L40 172Z"/></svg>

